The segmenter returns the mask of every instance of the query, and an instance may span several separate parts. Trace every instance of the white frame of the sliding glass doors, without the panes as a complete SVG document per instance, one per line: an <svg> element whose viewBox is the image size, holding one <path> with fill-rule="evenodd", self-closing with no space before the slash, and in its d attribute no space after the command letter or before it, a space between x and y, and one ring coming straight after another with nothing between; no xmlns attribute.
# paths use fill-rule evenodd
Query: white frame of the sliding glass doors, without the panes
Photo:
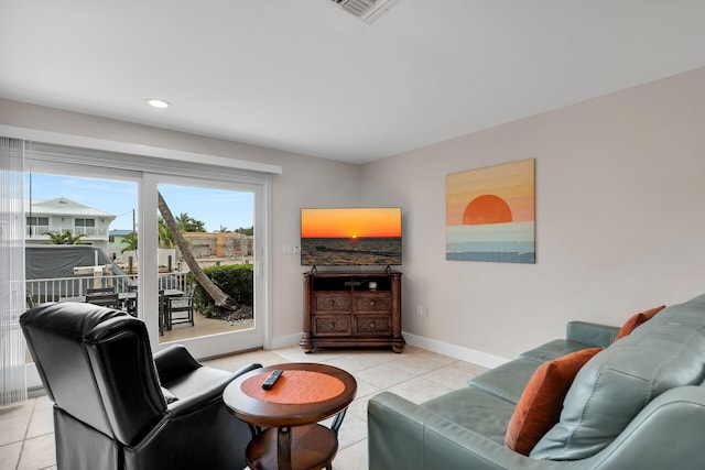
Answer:
<svg viewBox="0 0 705 470"><path fill-rule="evenodd" d="M164 162L163 167L170 168L171 165ZM187 167L188 164L176 161L174 165ZM161 165L160 165L161 166ZM199 165L203 167L203 165ZM199 359L224 356L241 350L253 349L258 347L269 348L271 343L271 270L269 266L269 253L271 249L271 240L269 236L269 222L271 212L271 177L268 174L252 174L247 171L238 172L236 168L228 168L223 174L215 172L205 172L208 177L203 176L204 172L199 172L199 176L185 176L169 173L158 173L149 170L122 170L112 167L110 162L96 160L86 163L67 163L58 159L34 159L32 156L25 160L25 172L46 173L57 175L72 175L86 178L98 179L117 179L137 183L138 187L138 233L140 240L154 240L158 238L158 223L155 214L158 214L156 194L158 184L184 184L193 186L194 182L203 186L248 190L254 194L254 320L257 338L252 339L252 335L248 335L245 340L235 340L239 331L214 335L203 338L178 340L188 348L188 350ZM152 215L147 217L147 215ZM140 292L156 292L159 263L156 261L156 251L150 250L149 242L138 243L138 272L142 273L138 277ZM144 313L140 316L147 324L150 335L150 342L153 351L161 350L173 342L159 343L159 308L156 296L138 296L138 311ZM235 336L234 336L235 335ZM243 335L241 335L243 336ZM237 346L235 346L237 345Z"/></svg>

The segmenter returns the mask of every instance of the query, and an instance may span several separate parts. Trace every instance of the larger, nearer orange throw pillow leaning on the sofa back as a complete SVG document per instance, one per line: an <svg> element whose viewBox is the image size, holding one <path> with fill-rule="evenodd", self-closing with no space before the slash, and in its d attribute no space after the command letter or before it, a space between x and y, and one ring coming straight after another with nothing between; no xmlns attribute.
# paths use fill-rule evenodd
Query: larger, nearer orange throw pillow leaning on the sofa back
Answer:
<svg viewBox="0 0 705 470"><path fill-rule="evenodd" d="M544 362L527 383L509 420L505 445L525 456L560 419L563 400L581 368L604 348L583 349Z"/></svg>

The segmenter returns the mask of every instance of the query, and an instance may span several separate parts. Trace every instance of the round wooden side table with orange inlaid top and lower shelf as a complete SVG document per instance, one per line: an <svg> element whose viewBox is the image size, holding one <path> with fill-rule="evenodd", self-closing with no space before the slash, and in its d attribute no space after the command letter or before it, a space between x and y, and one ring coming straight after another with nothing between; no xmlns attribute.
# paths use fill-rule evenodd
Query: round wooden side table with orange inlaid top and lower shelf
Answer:
<svg viewBox="0 0 705 470"><path fill-rule="evenodd" d="M262 390L275 369L284 371L282 376L272 390ZM356 392L355 378L341 369L293 362L239 376L225 389L223 401L252 429L246 449L250 468L321 469L329 468L338 450L337 433ZM318 424L333 415L330 428Z"/></svg>

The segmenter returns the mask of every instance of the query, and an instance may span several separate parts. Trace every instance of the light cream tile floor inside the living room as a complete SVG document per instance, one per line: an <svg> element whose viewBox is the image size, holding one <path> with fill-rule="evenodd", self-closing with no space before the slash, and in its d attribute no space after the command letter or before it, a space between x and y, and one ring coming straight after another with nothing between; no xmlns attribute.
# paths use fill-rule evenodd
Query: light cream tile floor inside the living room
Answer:
<svg viewBox="0 0 705 470"><path fill-rule="evenodd" d="M355 375L358 390L348 407L338 439L335 470L367 468L367 402L389 390L414 403L422 403L465 386L484 368L446 356L406 346L401 354L391 350L322 349L311 354L290 347L253 351L206 361L210 367L237 370L251 362L274 365L283 362L321 362ZM56 469L52 403L46 396L22 406L0 409L0 470Z"/></svg>

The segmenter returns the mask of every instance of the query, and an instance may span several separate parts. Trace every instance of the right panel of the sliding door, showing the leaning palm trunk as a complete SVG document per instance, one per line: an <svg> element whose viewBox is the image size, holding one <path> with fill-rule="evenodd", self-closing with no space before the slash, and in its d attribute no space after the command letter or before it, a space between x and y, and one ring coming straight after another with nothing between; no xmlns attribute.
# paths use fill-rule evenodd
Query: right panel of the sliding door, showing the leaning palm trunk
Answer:
<svg viewBox="0 0 705 470"><path fill-rule="evenodd" d="M159 342L185 342L203 356L261 347L260 188L164 175L147 181L156 190L158 237L150 243Z"/></svg>

